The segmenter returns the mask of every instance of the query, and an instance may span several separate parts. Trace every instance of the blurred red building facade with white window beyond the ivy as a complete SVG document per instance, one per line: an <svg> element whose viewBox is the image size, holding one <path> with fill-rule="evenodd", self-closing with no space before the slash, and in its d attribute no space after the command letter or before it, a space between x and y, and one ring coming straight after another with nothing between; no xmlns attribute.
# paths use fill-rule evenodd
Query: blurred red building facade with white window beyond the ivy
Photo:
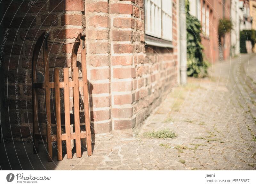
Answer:
<svg viewBox="0 0 256 186"><path fill-rule="evenodd" d="M190 14L202 24L202 44L206 60L214 63L230 56L230 33L220 41L219 20L230 19L231 0L189 0Z"/></svg>

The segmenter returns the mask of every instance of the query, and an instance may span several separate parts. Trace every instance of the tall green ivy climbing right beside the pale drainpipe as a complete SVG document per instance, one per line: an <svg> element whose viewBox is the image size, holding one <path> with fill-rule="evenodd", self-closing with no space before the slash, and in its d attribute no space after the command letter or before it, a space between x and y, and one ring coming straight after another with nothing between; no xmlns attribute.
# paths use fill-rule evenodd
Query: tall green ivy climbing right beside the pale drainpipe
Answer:
<svg viewBox="0 0 256 186"><path fill-rule="evenodd" d="M187 18L187 74L193 77L205 77L210 64L205 60L201 44L202 26L200 21L190 15L189 2L186 0Z"/></svg>

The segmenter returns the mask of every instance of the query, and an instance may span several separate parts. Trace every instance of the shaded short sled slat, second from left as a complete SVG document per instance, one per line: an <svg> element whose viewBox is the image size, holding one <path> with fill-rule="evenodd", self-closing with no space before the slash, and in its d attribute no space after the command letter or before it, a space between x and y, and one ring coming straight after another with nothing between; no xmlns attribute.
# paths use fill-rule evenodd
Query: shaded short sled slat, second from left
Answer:
<svg viewBox="0 0 256 186"><path fill-rule="evenodd" d="M56 126L57 126L57 144L58 144L58 160L62 160L61 145L61 125L60 125L60 76L59 69L54 69L54 85L55 85L55 108L56 108Z"/></svg>

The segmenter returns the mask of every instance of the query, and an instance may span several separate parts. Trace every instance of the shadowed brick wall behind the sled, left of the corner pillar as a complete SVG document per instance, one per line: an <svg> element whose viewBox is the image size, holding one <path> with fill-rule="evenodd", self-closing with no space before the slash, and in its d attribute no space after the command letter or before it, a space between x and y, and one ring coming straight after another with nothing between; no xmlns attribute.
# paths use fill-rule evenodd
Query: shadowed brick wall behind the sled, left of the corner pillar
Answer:
<svg viewBox="0 0 256 186"><path fill-rule="evenodd" d="M9 29L4 46L4 105L6 109L7 132L4 136L14 140L31 138L32 132L32 90L31 61L37 38L43 31L50 31L48 41L74 41L84 29L84 1L73 0L4 1L4 31ZM3 3L1 3L2 6ZM15 14L15 12L17 13ZM12 20L13 19L13 20ZM12 22L11 22L12 21ZM50 81L53 68L71 66L73 45L48 43L50 55ZM12 51L12 52L11 52ZM43 59L40 54L38 70L43 72ZM79 56L78 56L79 60ZM60 76L62 73L60 73ZM17 90L17 94L15 93ZM63 96L62 96L63 97ZM71 100L72 103L72 100ZM53 105L51 101L51 106ZM72 107L72 105L70 105ZM71 108L72 110L72 108ZM39 91L40 131L46 134L44 91ZM64 121L64 114L61 114ZM52 129L55 133L55 117L52 109ZM21 132L20 132L21 131Z"/></svg>

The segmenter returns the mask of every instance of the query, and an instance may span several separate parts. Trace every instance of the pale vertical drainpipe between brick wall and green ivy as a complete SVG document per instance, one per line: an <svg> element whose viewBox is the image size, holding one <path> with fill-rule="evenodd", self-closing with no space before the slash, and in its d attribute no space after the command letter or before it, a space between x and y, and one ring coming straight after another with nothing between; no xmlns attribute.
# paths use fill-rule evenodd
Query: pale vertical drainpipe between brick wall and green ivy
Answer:
<svg viewBox="0 0 256 186"><path fill-rule="evenodd" d="M187 83L187 25L185 0L180 0L180 83Z"/></svg>

